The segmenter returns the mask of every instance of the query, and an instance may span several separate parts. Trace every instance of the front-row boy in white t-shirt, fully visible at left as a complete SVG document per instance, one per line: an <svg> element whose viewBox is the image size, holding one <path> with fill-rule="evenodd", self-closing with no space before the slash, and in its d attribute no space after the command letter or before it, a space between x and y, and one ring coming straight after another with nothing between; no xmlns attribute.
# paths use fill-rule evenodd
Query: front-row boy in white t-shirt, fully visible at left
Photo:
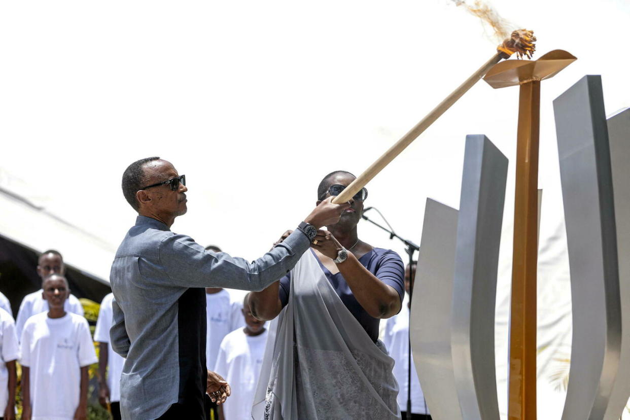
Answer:
<svg viewBox="0 0 630 420"><path fill-rule="evenodd" d="M23 420L87 416L88 367L98 359L88 321L64 309L69 294L64 276L47 277L49 310L30 317L22 331Z"/></svg>

